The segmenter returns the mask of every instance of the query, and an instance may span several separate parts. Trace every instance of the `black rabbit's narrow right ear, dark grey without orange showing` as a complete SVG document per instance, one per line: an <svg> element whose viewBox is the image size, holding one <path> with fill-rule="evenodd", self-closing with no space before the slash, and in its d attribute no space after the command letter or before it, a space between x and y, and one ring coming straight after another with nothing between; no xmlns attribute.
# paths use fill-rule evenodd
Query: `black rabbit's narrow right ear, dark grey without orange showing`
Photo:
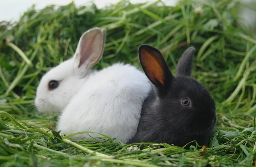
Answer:
<svg viewBox="0 0 256 167"><path fill-rule="evenodd" d="M182 54L176 68L176 76L190 76L192 70L192 57L195 53L195 48L189 47Z"/></svg>

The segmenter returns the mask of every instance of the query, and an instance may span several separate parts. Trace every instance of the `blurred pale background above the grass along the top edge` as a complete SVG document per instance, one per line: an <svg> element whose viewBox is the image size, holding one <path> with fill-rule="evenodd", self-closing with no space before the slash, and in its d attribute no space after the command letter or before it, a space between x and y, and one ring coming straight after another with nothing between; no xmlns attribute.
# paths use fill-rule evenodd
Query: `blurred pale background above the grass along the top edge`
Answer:
<svg viewBox="0 0 256 167"><path fill-rule="evenodd" d="M145 3L154 0L130 0L131 3ZM175 6L179 0L162 0L168 6ZM198 0L211 1L211 0ZM253 35L256 35L256 0L237 0L241 1L241 22L246 26ZM67 5L72 0L1 0L0 2L0 21L17 21L23 12L29 7L35 5L36 9L45 8L48 5ZM97 8L104 8L110 4L118 3L119 0L73 0L76 6L86 5L87 3L95 3ZM253 11L254 10L254 11Z"/></svg>

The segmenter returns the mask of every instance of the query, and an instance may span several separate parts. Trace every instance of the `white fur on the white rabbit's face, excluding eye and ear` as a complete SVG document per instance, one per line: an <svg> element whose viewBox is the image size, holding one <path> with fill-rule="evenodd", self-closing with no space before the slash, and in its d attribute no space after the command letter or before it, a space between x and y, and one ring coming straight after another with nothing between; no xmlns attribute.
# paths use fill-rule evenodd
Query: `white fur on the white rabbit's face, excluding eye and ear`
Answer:
<svg viewBox="0 0 256 167"><path fill-rule="evenodd" d="M73 69L74 59L62 62L41 79L36 93L35 106L39 112L61 112L81 88L85 78L79 78ZM58 88L48 90L51 80L61 81Z"/></svg>

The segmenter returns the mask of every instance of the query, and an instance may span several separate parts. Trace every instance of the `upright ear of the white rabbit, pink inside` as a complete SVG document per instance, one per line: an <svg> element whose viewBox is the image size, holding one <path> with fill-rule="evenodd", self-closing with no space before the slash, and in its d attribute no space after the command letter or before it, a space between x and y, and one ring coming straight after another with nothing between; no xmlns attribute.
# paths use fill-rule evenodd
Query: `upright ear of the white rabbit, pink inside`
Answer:
<svg viewBox="0 0 256 167"><path fill-rule="evenodd" d="M92 28L82 34L74 55L76 68L92 68L102 58L106 30Z"/></svg>

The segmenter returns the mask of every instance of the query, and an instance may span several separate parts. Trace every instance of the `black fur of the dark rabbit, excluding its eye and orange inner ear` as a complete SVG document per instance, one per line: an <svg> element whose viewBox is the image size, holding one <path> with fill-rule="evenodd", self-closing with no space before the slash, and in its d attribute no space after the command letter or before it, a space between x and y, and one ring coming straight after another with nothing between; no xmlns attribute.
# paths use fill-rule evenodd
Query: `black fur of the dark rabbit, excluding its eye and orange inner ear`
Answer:
<svg viewBox="0 0 256 167"><path fill-rule="evenodd" d="M148 45L140 45L140 59L143 58L140 49L145 47L151 49ZM216 124L215 102L207 89L190 77L194 51L190 47L184 52L177 65L177 76L172 76L172 81L165 83L169 86L164 96L159 96L157 85L152 82L154 85L143 102L137 133L128 144L162 142L183 147L194 140L201 146L207 144ZM160 52L156 56L163 59ZM169 68L163 70L171 74ZM181 105L184 97L191 99L192 108ZM195 142L186 148L190 145L195 145Z"/></svg>

